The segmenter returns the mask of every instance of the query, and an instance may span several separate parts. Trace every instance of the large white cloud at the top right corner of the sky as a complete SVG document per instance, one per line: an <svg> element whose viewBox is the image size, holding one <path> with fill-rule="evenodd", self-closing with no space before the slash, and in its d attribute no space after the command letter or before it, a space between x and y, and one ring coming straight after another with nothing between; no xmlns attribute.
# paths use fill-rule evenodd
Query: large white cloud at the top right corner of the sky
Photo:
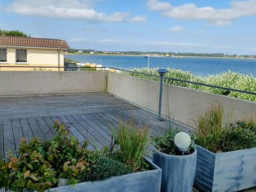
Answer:
<svg viewBox="0 0 256 192"><path fill-rule="evenodd" d="M168 9L154 9L154 6L159 3L163 2L148 0L148 4L150 4L148 8L150 10L161 10L166 17L184 20L206 20L209 24L216 26L229 25L235 19L256 15L256 0L233 1L228 9L214 9L211 6L197 7L194 3L175 7L170 4Z"/></svg>

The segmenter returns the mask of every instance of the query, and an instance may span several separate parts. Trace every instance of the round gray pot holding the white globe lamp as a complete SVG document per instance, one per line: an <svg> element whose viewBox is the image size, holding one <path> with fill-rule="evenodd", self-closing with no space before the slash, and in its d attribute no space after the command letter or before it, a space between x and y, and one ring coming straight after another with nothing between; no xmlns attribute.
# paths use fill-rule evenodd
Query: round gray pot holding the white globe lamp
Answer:
<svg viewBox="0 0 256 192"><path fill-rule="evenodd" d="M196 150L187 156L172 156L154 147L153 162L162 169L161 191L191 191L196 170Z"/></svg>

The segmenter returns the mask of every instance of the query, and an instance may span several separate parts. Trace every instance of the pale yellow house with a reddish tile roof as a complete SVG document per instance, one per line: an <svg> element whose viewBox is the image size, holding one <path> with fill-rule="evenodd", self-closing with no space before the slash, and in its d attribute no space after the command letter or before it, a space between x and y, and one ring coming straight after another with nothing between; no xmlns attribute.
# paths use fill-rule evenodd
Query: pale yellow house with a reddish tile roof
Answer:
<svg viewBox="0 0 256 192"><path fill-rule="evenodd" d="M64 67L68 49L65 40L0 36L0 70L63 70L47 67Z"/></svg>

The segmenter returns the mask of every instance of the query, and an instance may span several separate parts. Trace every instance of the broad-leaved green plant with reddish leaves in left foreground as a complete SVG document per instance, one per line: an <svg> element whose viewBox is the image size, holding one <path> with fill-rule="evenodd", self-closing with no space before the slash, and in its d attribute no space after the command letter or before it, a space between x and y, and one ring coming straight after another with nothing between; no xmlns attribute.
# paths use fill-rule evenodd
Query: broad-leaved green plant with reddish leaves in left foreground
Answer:
<svg viewBox="0 0 256 192"><path fill-rule="evenodd" d="M74 136L70 136L68 127L54 123L56 136L51 141L42 142L33 138L29 143L21 140L18 150L19 157L10 158L0 163L0 188L13 191L23 189L45 189L58 185L58 179L68 179L68 184L76 184L82 172L89 172L94 163L95 154L86 150Z"/></svg>

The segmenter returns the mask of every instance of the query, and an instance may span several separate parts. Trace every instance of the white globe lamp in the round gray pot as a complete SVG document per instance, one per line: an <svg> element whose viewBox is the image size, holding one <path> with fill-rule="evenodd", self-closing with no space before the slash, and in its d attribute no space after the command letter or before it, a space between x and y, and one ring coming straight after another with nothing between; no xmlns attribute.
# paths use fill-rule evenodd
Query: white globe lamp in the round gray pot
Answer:
<svg viewBox="0 0 256 192"><path fill-rule="evenodd" d="M191 138L186 132L178 132L174 137L174 143L180 151L185 151L191 144Z"/></svg>

